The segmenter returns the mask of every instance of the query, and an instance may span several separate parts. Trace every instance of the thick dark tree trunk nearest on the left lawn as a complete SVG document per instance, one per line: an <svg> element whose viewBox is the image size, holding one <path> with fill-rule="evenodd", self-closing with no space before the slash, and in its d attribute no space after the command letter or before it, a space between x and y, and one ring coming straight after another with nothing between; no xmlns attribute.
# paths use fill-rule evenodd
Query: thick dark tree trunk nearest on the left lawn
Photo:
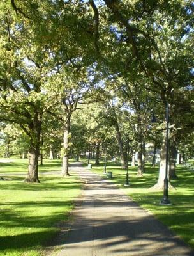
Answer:
<svg viewBox="0 0 194 256"><path fill-rule="evenodd" d="M24 182L40 182L38 179L38 158L40 154L41 118L42 116L40 113L35 113L29 148L28 173L27 177L24 179Z"/></svg>

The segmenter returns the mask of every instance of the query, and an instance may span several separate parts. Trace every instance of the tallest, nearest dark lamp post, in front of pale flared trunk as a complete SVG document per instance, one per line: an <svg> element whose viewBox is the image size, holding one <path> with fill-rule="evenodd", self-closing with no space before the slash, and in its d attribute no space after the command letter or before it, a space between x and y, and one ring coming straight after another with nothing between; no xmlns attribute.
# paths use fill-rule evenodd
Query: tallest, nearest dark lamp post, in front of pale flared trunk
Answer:
<svg viewBox="0 0 194 256"><path fill-rule="evenodd" d="M165 179L164 179L164 189L163 198L160 201L160 205L171 205L168 199L168 156L169 156L169 104L166 101L166 124L167 124L167 134L166 134L166 168L165 168Z"/></svg>

